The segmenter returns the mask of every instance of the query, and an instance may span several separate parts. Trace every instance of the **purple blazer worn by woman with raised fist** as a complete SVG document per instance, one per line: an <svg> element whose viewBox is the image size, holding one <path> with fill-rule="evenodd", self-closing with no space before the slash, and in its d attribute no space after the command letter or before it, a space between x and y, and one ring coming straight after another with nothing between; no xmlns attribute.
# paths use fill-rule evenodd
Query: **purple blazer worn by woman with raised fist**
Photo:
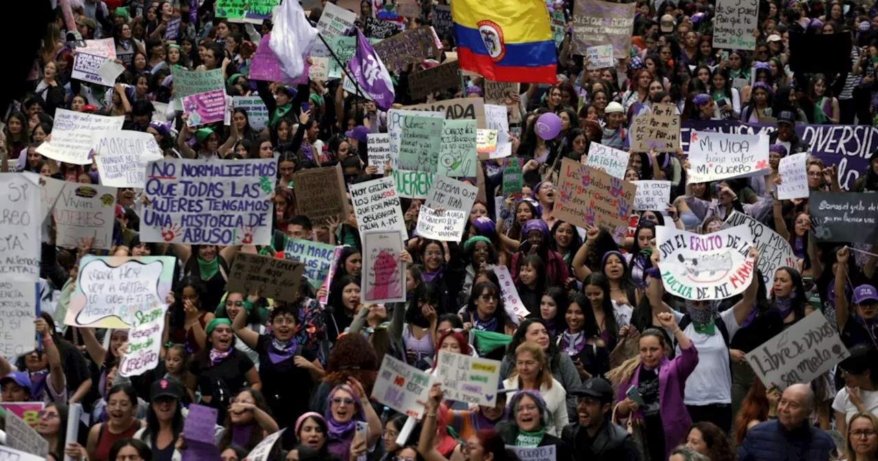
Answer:
<svg viewBox="0 0 878 461"><path fill-rule="evenodd" d="M689 412L683 403L683 394L686 392L686 379L697 364L698 351L695 350L694 344L680 350L680 355L673 357L673 360L662 357L659 363L659 415L662 428L665 429L665 458L670 457L671 451L683 442L687 429L692 425L692 419L689 418ZM616 402L625 400L625 392L631 385L637 385L641 366L637 367L631 378L619 385L615 396ZM637 410L635 417L643 421L644 414Z"/></svg>

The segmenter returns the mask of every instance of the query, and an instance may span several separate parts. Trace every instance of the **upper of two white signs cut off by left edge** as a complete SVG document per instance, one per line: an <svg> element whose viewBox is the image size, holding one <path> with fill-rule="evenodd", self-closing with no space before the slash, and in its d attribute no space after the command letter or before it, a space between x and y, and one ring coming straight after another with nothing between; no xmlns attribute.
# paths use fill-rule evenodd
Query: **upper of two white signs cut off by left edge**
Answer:
<svg viewBox="0 0 878 461"><path fill-rule="evenodd" d="M0 280L4 282L40 281L43 191L37 180L33 173L0 173Z"/></svg>

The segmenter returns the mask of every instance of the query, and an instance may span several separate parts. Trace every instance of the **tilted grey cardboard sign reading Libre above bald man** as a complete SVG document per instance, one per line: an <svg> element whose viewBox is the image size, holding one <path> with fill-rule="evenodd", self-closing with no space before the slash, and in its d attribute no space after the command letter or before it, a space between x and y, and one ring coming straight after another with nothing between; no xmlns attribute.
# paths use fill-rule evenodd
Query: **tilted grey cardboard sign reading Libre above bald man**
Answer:
<svg viewBox="0 0 878 461"><path fill-rule="evenodd" d="M838 331L823 313L814 311L746 357L762 384L783 390L810 383L850 355Z"/></svg>

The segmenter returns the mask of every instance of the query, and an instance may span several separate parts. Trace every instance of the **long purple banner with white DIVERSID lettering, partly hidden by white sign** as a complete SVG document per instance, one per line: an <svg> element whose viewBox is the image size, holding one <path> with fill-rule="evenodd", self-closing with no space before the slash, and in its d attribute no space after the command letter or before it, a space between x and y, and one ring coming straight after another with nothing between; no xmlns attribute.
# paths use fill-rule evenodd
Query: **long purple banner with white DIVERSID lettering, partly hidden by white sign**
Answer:
<svg viewBox="0 0 878 461"><path fill-rule="evenodd" d="M766 123L741 123L727 120L685 121L680 127L680 147L689 150L689 133L716 131L720 133L774 133L777 126ZM867 171L869 155L878 148L878 129L867 125L806 125L796 124L795 133L810 146L814 155L827 166L838 165L838 183L849 191L853 182Z"/></svg>

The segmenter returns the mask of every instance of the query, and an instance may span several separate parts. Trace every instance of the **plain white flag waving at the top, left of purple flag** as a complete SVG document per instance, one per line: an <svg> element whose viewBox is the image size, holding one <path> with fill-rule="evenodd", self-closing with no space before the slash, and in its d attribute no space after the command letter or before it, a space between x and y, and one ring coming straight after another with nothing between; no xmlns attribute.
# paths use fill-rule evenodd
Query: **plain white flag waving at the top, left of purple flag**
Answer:
<svg viewBox="0 0 878 461"><path fill-rule="evenodd" d="M299 2L281 4L274 15L269 47L281 72L295 80L305 72L305 60L317 40L317 29L308 22Z"/></svg>

